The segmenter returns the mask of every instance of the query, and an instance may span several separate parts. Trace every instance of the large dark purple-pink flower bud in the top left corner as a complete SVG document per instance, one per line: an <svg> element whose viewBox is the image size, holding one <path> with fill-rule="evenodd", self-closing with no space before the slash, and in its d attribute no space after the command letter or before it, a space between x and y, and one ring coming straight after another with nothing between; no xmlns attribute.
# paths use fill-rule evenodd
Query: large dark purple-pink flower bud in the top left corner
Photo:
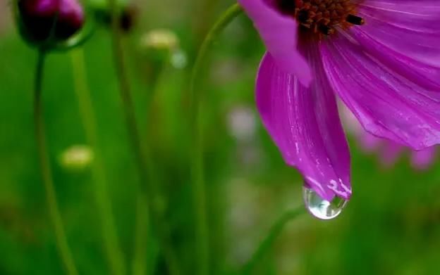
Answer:
<svg viewBox="0 0 440 275"><path fill-rule="evenodd" d="M66 40L84 24L82 6L76 0L19 0L18 12L23 34L30 41Z"/></svg>

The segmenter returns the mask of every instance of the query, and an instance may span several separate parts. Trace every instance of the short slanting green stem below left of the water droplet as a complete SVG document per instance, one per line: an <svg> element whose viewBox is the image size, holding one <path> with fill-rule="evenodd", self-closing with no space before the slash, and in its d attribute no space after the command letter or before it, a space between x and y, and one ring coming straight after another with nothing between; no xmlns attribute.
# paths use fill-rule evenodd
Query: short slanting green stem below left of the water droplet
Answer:
<svg viewBox="0 0 440 275"><path fill-rule="evenodd" d="M292 219L295 219L302 213L304 213L305 210L303 207L300 207L295 210L290 210L284 215L282 215L276 222L271 226L271 229L269 230L269 234L267 234L266 238L263 239L261 243L259 243L259 246L257 250L252 254L252 257L250 257L250 260L245 264L243 267L242 274L252 274L253 269L257 264L262 260L262 257L266 254L267 250L269 250L272 245L274 244L274 241L276 238L281 234L281 231L283 230L284 226L290 222Z"/></svg>

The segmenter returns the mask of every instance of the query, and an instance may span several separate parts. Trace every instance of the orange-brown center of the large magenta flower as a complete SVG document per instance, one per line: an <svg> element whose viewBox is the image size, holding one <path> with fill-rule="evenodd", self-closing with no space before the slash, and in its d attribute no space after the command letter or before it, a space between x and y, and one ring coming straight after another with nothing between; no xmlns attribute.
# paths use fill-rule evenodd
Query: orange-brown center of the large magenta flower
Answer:
<svg viewBox="0 0 440 275"><path fill-rule="evenodd" d="M321 39L334 34L337 27L346 29L362 25L351 0L276 0L282 13L292 15L300 24L302 34Z"/></svg>

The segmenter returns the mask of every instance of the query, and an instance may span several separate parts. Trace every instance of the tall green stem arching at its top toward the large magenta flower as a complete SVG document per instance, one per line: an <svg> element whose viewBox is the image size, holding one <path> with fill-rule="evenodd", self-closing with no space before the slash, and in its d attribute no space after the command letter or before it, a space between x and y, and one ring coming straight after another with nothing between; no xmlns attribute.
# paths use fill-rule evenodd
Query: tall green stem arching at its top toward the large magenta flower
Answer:
<svg viewBox="0 0 440 275"><path fill-rule="evenodd" d="M193 72L190 80L190 110L192 110L190 122L191 129L194 134L191 150L193 152L191 161L191 177L193 184L193 200L195 207L195 234L196 234L196 257L197 257L197 274L209 274L209 226L207 220L207 198L204 186L203 174L203 130L202 130L202 115L200 115L202 108L202 94L196 90L196 79L200 75L202 68L202 60L212 45L214 40L219 37L219 34L224 28L231 23L240 13L242 8L238 4L233 4L225 11L219 20L214 23L214 26L209 30L207 36L200 46L195 59Z"/></svg>

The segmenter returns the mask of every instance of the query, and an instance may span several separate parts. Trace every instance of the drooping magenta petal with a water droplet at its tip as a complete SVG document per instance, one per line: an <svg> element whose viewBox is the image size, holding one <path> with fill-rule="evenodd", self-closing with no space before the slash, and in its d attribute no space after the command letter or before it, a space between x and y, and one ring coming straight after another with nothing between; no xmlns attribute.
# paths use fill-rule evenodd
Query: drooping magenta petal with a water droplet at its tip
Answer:
<svg viewBox="0 0 440 275"><path fill-rule="evenodd" d="M350 154L346 136L322 66L316 70L317 77L310 88L305 88L298 77L279 70L267 53L257 76L257 106L284 160L300 170L307 186L326 200L335 195L348 199Z"/></svg>

